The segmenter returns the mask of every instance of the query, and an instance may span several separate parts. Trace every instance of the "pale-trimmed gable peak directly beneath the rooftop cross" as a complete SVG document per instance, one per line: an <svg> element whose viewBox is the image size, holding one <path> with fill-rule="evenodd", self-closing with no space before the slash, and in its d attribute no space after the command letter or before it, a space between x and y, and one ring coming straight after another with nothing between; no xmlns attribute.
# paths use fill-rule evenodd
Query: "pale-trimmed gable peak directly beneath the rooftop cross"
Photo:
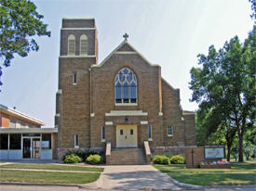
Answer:
<svg viewBox="0 0 256 191"><path fill-rule="evenodd" d="M120 51L120 49L125 46L128 45L129 50L128 51ZM128 43L127 40L124 40L120 45L118 45L114 51L112 51L112 53L110 53L105 59L103 59L100 63L100 65L92 65L92 67L101 67L110 57L112 57L114 54L138 54L140 57L142 57L142 59L144 59L148 64L150 64L151 66L159 66L159 65L155 65L152 64L151 62L149 62L145 57L143 57L141 55L141 53L139 53L132 45L130 45Z"/></svg>

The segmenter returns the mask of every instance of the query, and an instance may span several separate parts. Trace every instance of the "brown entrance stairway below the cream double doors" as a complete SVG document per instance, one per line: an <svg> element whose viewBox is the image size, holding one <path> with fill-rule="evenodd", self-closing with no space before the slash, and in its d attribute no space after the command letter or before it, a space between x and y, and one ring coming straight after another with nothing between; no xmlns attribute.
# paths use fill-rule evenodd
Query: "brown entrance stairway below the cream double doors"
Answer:
<svg viewBox="0 0 256 191"><path fill-rule="evenodd" d="M115 148L111 150L110 164L147 164L143 148Z"/></svg>

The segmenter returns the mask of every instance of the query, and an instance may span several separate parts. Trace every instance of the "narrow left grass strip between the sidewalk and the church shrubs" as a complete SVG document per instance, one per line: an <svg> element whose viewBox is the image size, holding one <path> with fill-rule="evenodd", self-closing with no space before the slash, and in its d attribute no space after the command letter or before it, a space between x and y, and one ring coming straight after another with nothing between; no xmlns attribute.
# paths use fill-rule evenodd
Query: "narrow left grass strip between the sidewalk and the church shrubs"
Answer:
<svg viewBox="0 0 256 191"><path fill-rule="evenodd" d="M16 163L1 165L0 170L4 169L39 169L39 170L55 170L55 171L81 171L81 172L103 172L103 168L99 167L81 167L69 166L66 164L44 164L44 163Z"/></svg>

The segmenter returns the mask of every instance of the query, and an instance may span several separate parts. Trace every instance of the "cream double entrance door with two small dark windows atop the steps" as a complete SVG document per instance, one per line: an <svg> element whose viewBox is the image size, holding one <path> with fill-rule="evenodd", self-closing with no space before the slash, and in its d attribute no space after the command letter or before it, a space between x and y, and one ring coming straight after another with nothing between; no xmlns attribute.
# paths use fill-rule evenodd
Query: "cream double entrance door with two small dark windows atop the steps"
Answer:
<svg viewBox="0 0 256 191"><path fill-rule="evenodd" d="M116 126L116 147L137 147L137 125Z"/></svg>

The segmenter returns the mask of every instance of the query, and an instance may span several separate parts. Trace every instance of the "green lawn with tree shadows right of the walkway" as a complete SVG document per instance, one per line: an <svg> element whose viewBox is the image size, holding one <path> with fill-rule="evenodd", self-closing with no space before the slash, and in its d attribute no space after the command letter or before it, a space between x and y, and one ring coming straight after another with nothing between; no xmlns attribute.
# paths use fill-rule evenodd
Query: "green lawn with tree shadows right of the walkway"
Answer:
<svg viewBox="0 0 256 191"><path fill-rule="evenodd" d="M161 172L166 172L181 183L192 185L255 185L256 164L233 162L231 169L186 169L185 165L154 165ZM233 172L233 173L232 173ZM236 173L234 173L236 172Z"/></svg>

